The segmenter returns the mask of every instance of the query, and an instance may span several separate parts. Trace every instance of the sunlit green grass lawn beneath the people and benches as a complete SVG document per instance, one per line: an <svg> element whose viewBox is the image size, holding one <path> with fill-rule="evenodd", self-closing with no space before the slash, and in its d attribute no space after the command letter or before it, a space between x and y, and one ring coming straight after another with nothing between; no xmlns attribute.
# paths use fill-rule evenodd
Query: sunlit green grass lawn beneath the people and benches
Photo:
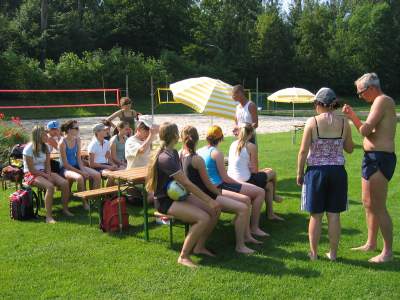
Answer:
<svg viewBox="0 0 400 300"><path fill-rule="evenodd" d="M360 145L357 135L355 140ZM223 142L225 151L231 141L227 138ZM190 270L176 263L183 229L175 228L176 244L171 250L168 227L155 225L151 219L151 241L144 242L140 208L129 209L133 225L129 232L109 235L88 225L79 202L71 205L75 217L63 217L59 198L55 207L59 222L54 226L46 225L43 218L12 221L8 217L8 195L12 190L1 191L1 298L399 299L399 172L391 181L388 199L395 228L394 262L372 265L367 260L377 253L350 251L366 239L360 200L360 146L348 156L350 207L342 215L339 259L334 263L324 258L310 262L308 215L299 210L300 189L295 184L299 145L291 144L290 133L260 135L258 141L261 166L270 166L278 172L278 192L285 201L276 204L275 211L286 221L270 222L262 217L261 227L271 237L254 247L257 254L235 253L232 215L222 215L209 241L208 246L218 257L195 257L201 267ZM320 255L327 249L325 224Z"/></svg>

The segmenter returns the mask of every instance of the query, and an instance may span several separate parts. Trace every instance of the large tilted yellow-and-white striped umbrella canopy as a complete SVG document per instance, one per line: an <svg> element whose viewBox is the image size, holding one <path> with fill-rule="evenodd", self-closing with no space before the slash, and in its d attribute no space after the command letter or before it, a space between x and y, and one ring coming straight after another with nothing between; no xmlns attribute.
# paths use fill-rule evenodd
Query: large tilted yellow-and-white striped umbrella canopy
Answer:
<svg viewBox="0 0 400 300"><path fill-rule="evenodd" d="M227 119L235 118L236 103L232 86L209 77L190 78L170 85L174 100L199 113Z"/></svg>

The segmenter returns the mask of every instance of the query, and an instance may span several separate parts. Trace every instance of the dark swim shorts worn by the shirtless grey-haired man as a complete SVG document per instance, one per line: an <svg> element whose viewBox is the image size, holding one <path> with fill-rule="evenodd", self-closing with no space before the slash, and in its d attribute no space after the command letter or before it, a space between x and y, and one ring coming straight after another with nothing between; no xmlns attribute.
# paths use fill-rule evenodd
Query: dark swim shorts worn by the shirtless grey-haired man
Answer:
<svg viewBox="0 0 400 300"><path fill-rule="evenodd" d="M396 154L384 151L365 151L361 166L361 176L368 180L376 172L381 171L390 181L396 169Z"/></svg>

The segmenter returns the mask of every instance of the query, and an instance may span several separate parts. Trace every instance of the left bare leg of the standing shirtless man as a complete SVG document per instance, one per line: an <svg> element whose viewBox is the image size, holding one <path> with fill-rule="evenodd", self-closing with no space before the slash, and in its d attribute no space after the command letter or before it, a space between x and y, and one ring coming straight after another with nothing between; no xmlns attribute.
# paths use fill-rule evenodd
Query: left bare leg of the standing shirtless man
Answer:
<svg viewBox="0 0 400 300"><path fill-rule="evenodd" d="M379 224L375 215L372 214L370 212L370 209L368 208L370 207L371 203L371 186L369 181L365 180L364 178L361 179L361 191L362 191L362 200L365 208L365 218L368 227L368 239L364 245L352 248L351 250L375 251L377 246Z"/></svg>

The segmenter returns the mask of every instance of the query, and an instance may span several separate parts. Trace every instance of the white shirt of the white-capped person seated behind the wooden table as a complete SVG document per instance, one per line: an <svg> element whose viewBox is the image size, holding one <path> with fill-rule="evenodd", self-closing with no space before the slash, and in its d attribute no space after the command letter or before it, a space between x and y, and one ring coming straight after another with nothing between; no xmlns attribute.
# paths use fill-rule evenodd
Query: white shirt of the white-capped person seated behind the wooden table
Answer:
<svg viewBox="0 0 400 300"><path fill-rule="evenodd" d="M142 147L144 141L139 140L135 136L131 136L126 140L125 143L125 157L127 161L127 169L145 167L150 160L150 147L148 147L143 153L138 153L140 147Z"/></svg>

